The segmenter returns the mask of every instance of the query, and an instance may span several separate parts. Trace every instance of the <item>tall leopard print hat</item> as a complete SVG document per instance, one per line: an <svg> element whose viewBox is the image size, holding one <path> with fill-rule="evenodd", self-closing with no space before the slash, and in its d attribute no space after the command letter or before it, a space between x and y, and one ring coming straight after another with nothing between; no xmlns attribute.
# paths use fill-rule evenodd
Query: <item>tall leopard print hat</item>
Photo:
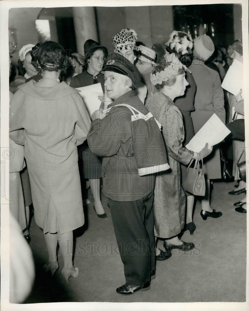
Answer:
<svg viewBox="0 0 249 311"><path fill-rule="evenodd" d="M113 37L114 52L118 53L122 50L128 49L138 51L138 48L136 47L136 39L137 34L135 30L129 28L122 29Z"/></svg>

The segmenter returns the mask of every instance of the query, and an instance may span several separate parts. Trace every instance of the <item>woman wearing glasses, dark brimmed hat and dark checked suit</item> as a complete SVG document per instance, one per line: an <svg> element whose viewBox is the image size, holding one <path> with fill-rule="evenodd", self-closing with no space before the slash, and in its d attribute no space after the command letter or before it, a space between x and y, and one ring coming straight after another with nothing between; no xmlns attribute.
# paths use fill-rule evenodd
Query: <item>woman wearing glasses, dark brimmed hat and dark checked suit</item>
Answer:
<svg viewBox="0 0 249 311"><path fill-rule="evenodd" d="M104 92L104 76L100 73L100 70L103 68L108 51L104 46L99 45L98 42L89 39L85 41L84 52L85 65L83 72L72 78L70 86L82 87L100 83ZM89 180L90 189L93 194L94 209L98 217L105 218L106 213L100 199L102 158L90 151L87 142L79 146L78 149L79 157L83 161L83 177Z"/></svg>

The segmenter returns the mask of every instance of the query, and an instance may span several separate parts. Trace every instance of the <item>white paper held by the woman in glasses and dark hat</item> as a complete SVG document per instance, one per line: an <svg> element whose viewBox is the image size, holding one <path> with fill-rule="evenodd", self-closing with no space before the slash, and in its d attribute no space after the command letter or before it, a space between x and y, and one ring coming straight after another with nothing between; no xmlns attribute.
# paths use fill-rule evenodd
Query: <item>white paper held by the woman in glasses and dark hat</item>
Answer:
<svg viewBox="0 0 249 311"><path fill-rule="evenodd" d="M80 91L80 95L84 100L86 109L91 117L95 110L99 110L101 101L98 96L103 96L103 91L100 83L92 84L89 86L76 87Z"/></svg>

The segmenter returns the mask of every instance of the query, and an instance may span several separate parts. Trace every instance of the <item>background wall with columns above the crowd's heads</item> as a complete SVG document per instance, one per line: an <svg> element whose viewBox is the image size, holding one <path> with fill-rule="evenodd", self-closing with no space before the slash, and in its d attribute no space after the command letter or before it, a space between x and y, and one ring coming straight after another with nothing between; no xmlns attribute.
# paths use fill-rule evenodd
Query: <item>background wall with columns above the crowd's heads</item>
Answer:
<svg viewBox="0 0 249 311"><path fill-rule="evenodd" d="M75 15L75 9L80 12L80 16ZM84 42L85 38L92 37L92 34L87 32L84 21L85 23L91 21L93 26L97 25L96 38L108 48L109 52L113 51L113 35L126 27L136 30L138 40L148 47L153 43L165 44L173 30L189 29L193 37L194 30L197 35L202 34L204 24L206 34L211 36L218 47L227 47L234 39L242 38L240 4L95 7L92 16L89 16L89 10L84 7L75 9L72 7L10 9L9 28L16 30L17 38L12 62L17 63L18 51L24 44L41 42L42 38L35 29L36 19L48 19L51 40L57 41L65 49L71 49L73 52L76 52L77 34L83 34ZM80 22L76 23L79 19ZM214 36L211 26L214 29ZM83 52L83 41L77 44L78 49L81 49L77 51L78 53Z"/></svg>

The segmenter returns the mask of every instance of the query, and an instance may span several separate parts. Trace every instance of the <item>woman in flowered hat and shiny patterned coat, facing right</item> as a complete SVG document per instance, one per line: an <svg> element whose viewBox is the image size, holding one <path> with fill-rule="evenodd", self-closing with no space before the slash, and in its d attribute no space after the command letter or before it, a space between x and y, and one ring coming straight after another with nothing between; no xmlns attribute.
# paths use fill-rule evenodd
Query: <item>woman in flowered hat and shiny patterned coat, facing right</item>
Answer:
<svg viewBox="0 0 249 311"><path fill-rule="evenodd" d="M149 111L162 125L162 134L168 153L170 171L156 176L154 189L154 232L160 238L156 248L156 259L165 260L171 256L170 250L178 248L188 251L195 247L178 238L185 224L186 196L181 185L180 163L188 164L191 159L201 159L210 154L205 148L200 153L182 146L184 126L182 114L173 100L184 95L188 82L182 63L162 63L150 75L151 83L159 90L146 104Z"/></svg>

